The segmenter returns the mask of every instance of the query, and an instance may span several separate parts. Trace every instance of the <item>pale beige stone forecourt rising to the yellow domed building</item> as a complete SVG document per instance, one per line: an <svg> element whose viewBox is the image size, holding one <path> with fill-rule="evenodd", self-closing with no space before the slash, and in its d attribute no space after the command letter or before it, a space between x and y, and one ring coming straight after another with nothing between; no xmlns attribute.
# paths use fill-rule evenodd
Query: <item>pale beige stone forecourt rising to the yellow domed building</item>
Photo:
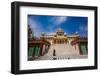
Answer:
<svg viewBox="0 0 100 76"><path fill-rule="evenodd" d="M56 56L53 56L53 50L56 51ZM37 60L53 60L56 58L59 59L77 59L77 58L87 58L87 56L79 55L79 50L70 44L52 44L48 52L38 58Z"/></svg>

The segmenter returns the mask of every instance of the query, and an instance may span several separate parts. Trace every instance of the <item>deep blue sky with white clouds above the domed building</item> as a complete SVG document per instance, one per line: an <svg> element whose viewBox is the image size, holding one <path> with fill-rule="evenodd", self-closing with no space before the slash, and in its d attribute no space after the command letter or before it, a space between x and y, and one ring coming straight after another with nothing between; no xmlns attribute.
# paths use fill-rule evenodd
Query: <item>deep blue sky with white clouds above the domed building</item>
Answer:
<svg viewBox="0 0 100 76"><path fill-rule="evenodd" d="M88 32L87 17L28 15L28 25L37 37L42 32L54 34L58 28L63 29L67 35L78 32L81 37L87 37Z"/></svg>

